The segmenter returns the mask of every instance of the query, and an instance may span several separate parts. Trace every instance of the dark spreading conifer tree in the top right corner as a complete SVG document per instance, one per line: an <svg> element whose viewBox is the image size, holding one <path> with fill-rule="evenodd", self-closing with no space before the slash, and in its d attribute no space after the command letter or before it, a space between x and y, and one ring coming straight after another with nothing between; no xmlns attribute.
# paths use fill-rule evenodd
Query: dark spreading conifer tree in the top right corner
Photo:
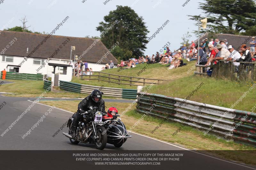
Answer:
<svg viewBox="0 0 256 170"><path fill-rule="evenodd" d="M192 20L207 18L211 23L211 32L241 34L255 25L256 8L253 0L204 0L199 9L204 10L204 17L189 15ZM214 23L214 21L217 21ZM202 32L205 30L202 30Z"/></svg>

